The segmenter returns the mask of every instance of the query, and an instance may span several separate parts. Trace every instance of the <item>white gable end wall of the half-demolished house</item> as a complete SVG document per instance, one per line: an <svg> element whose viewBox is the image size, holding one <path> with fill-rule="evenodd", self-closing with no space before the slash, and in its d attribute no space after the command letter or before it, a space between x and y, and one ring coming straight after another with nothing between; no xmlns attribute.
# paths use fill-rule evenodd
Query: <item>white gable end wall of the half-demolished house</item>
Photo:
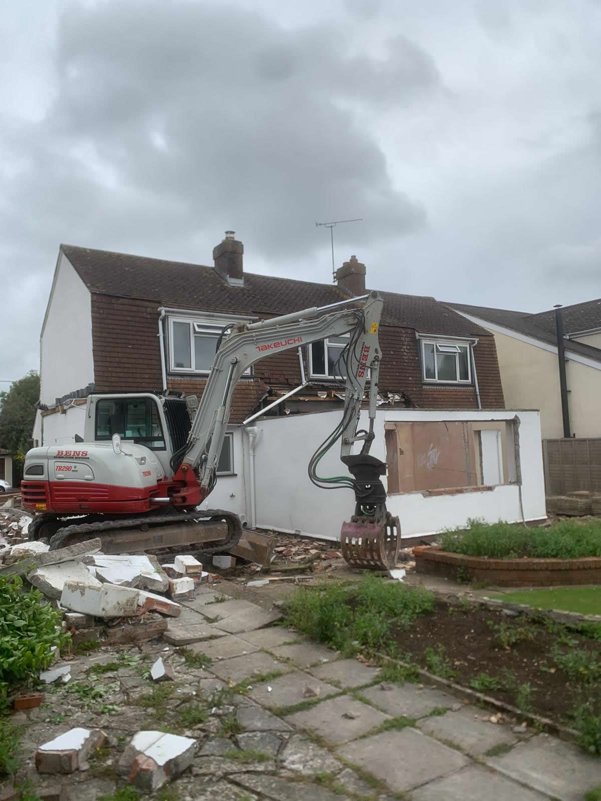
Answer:
<svg viewBox="0 0 601 801"><path fill-rule="evenodd" d="M40 398L54 405L93 380L91 294L61 253L42 328Z"/></svg>

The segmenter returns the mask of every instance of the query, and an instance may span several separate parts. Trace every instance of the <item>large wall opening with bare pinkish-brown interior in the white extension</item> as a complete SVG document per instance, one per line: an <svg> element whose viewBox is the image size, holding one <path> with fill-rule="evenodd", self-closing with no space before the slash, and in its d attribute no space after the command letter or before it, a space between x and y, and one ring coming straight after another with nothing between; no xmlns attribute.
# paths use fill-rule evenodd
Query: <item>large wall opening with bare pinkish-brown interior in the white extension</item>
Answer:
<svg viewBox="0 0 601 801"><path fill-rule="evenodd" d="M388 492L515 481L512 421L386 423Z"/></svg>

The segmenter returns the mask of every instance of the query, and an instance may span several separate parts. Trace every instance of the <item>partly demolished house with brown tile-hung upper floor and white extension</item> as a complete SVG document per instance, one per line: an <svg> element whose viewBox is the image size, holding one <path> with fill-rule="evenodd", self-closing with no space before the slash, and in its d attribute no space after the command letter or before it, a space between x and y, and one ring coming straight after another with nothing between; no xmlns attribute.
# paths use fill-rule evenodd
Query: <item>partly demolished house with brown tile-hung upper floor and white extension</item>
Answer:
<svg viewBox="0 0 601 801"><path fill-rule="evenodd" d="M242 243L229 231L213 250L213 267L61 245L42 325L34 441L64 444L81 436L90 392L168 390L200 396L217 338L234 320L265 319L366 292L365 265L354 256L337 270L335 284L249 273L243 257ZM433 297L381 295L382 425L374 449L391 467L389 493L417 493L409 530L431 533L479 513L496 520L503 509L512 519L522 519L514 514L515 504L504 504L501 496L513 485L510 491L519 489L521 497L520 459L523 464L530 456L520 457L523 437L518 431L526 424L505 409L494 336ZM240 380L212 507L232 509L251 525L336 535L330 527L316 529L306 512L296 519L291 493L278 493L276 481L269 493L285 502L280 516L273 517L267 498L261 499L264 482L256 476L268 472L260 466L268 454L276 472L279 465L278 474L285 476L282 486L294 486L296 497L310 504L329 503L324 493L313 496L306 475L309 458L303 460L305 450L323 439L322 421L340 413L344 390L335 372L344 347L340 337L268 356ZM390 425L384 425L385 413L393 414L387 418ZM538 414L527 425L539 438ZM279 439L270 439L269 432ZM538 469L533 458L532 475ZM537 492L526 519L544 516L544 497L540 509ZM439 509L446 505L440 501L445 493L443 501L454 511L426 519L438 503ZM333 494L345 495L350 514L352 496ZM432 502L421 505L419 498Z"/></svg>

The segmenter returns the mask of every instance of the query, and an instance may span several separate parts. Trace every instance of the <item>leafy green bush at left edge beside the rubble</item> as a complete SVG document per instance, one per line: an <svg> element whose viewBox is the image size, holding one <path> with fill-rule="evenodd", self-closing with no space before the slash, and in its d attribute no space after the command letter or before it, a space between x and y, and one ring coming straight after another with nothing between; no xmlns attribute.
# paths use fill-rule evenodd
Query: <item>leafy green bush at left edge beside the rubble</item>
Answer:
<svg viewBox="0 0 601 801"><path fill-rule="evenodd" d="M12 688L50 666L52 646L67 645L71 634L61 633L61 619L38 590L23 591L21 578L0 577L0 710Z"/></svg>

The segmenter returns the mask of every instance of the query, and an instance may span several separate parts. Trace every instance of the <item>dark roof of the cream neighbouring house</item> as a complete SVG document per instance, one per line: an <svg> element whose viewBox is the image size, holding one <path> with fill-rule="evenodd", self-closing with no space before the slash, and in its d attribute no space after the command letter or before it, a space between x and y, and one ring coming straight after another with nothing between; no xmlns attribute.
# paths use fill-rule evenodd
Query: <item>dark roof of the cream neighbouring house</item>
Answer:
<svg viewBox="0 0 601 801"><path fill-rule="evenodd" d="M531 336L534 339L547 342L547 344L557 344L555 333L555 309L549 312L514 312L505 308L488 308L486 306L470 306L469 304L450 303L446 304L458 312L465 312L478 320L510 328L511 331ZM601 300L590 300L587 303L575 304L562 308L563 332L586 331L590 328L601 328ZM594 348L592 345L569 340L566 348L588 356L591 359L601 361L601 349Z"/></svg>

